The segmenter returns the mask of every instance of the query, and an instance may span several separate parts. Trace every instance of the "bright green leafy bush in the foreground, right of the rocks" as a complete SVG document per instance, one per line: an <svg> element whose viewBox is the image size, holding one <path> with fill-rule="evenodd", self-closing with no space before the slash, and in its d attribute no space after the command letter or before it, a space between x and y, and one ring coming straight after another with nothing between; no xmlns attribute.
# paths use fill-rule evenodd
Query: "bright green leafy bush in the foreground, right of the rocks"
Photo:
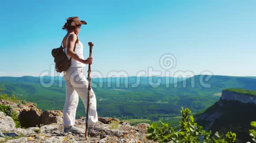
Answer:
<svg viewBox="0 0 256 143"><path fill-rule="evenodd" d="M158 141L161 143L234 143L236 140L236 134L233 132L227 132L225 138L222 138L218 134L212 137L211 131L207 132L203 130L203 127L198 126L194 122L194 118L191 111L182 107L181 121L179 122L181 129L175 131L168 124L162 123L162 126L158 127L157 123L153 123L148 128L147 139Z"/></svg>

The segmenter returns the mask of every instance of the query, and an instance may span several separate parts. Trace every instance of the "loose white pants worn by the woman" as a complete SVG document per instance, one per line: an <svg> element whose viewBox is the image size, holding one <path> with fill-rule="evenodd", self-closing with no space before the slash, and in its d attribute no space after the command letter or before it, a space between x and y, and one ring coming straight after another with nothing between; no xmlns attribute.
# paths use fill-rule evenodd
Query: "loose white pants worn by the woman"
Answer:
<svg viewBox="0 0 256 143"><path fill-rule="evenodd" d="M64 72L66 81L66 101L63 111L64 127L75 125L75 113L79 97L87 109L88 81L83 74L83 67L71 67ZM96 97L93 89L90 90L90 109L88 126L92 127L98 121Z"/></svg>

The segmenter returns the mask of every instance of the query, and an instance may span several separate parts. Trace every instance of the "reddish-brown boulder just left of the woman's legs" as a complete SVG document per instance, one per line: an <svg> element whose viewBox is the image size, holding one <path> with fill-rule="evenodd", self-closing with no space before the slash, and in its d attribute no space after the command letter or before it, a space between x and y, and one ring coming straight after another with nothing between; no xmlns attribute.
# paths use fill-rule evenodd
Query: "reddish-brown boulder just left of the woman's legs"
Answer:
<svg viewBox="0 0 256 143"><path fill-rule="evenodd" d="M53 123L63 123L63 111L45 110L40 116L41 125L49 125Z"/></svg>

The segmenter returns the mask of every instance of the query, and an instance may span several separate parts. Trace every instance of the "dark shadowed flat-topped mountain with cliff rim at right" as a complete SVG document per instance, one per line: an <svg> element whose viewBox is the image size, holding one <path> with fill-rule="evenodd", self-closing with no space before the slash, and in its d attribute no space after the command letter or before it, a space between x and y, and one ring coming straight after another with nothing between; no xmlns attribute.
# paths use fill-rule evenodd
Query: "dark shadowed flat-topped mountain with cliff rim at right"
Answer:
<svg viewBox="0 0 256 143"><path fill-rule="evenodd" d="M245 143L250 140L250 122L256 121L256 91L224 89L218 102L194 117L206 130L222 134L231 130L240 143Z"/></svg>

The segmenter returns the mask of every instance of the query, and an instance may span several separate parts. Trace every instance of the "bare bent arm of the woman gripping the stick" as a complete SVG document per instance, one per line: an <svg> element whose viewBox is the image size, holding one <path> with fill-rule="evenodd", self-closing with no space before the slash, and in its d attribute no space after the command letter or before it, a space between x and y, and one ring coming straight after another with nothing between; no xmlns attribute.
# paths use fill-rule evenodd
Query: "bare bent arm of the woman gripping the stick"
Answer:
<svg viewBox="0 0 256 143"><path fill-rule="evenodd" d="M68 38L68 47L67 47L67 54L68 56L72 57L72 59L79 61L83 64L92 64L92 57L88 57L87 60L81 59L77 54L75 54L74 46L76 42L77 36L75 34L72 34Z"/></svg>

